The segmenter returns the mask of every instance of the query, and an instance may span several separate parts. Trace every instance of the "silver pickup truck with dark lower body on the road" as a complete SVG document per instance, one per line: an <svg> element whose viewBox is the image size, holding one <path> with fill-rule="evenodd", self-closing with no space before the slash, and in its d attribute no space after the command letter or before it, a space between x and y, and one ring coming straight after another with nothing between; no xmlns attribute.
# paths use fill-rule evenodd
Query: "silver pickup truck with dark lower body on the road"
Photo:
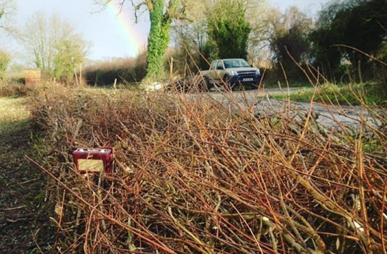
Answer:
<svg viewBox="0 0 387 254"><path fill-rule="evenodd" d="M227 86L230 90L235 85L250 85L258 89L261 82L261 72L253 68L245 59L218 59L212 61L209 70L201 70L203 80L210 90L214 86Z"/></svg>

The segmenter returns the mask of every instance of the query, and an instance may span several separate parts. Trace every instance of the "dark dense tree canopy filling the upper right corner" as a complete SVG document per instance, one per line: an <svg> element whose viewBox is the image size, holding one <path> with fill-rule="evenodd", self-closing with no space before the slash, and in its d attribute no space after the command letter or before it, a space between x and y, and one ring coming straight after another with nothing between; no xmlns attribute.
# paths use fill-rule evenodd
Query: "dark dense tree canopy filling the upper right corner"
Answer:
<svg viewBox="0 0 387 254"><path fill-rule="evenodd" d="M349 61L353 69L361 68L358 71L370 70L372 64L366 54L377 55L386 39L386 0L334 1L320 12L317 28L310 36L315 63L333 77L341 75L343 61Z"/></svg>

